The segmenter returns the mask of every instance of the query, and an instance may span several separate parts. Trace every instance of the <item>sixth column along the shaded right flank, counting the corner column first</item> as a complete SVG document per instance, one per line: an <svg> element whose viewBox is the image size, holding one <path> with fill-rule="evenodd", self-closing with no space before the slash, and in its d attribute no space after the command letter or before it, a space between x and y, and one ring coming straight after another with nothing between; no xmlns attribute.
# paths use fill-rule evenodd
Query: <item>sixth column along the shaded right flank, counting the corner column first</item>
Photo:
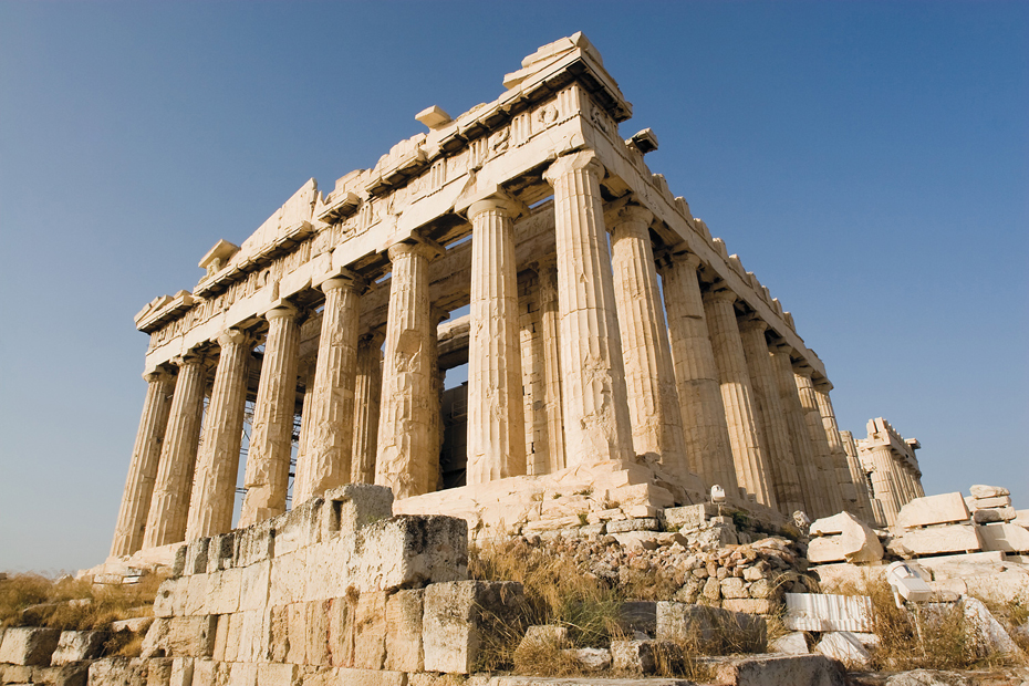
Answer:
<svg viewBox="0 0 1029 686"><path fill-rule="evenodd" d="M819 478L814 448L808 437L805 413L800 404L797 383L793 381L793 365L790 362L791 350L786 344L769 346L772 367L779 382L779 399L782 401L786 424L790 430L790 447L793 449L793 464L797 466L797 476L800 479L804 512L814 519L830 514L831 508L825 497L825 489Z"/></svg>

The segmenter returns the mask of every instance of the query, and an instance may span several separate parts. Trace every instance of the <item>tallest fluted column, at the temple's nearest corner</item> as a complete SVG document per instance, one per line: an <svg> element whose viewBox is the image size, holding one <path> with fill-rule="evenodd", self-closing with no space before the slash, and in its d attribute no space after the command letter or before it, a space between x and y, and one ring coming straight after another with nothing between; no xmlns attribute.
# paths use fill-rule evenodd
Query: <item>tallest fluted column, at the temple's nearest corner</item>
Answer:
<svg viewBox="0 0 1029 686"><path fill-rule="evenodd" d="M633 459L601 175L592 152L561 157L543 174L554 189L569 466Z"/></svg>

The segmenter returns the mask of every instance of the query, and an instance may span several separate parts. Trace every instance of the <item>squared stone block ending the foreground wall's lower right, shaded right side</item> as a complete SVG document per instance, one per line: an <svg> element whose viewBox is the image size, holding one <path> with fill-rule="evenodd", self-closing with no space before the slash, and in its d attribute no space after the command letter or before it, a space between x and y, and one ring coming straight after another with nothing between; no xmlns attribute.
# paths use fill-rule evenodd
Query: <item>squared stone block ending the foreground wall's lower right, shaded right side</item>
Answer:
<svg viewBox="0 0 1029 686"><path fill-rule="evenodd" d="M456 581L425 590L422 637L425 669L468 674L490 623L503 623L522 603L514 582Z"/></svg>

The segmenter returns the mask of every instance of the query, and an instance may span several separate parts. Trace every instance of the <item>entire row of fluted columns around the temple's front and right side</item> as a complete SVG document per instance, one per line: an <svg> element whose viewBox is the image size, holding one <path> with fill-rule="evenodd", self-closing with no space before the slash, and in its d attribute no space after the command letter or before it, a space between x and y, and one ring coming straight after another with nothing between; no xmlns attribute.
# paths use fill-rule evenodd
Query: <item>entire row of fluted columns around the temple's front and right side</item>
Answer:
<svg viewBox="0 0 1029 686"><path fill-rule="evenodd" d="M786 346L769 347L763 322L738 320L736 295L724 284L701 291L696 256L663 257L662 303L653 216L632 205L615 210L609 251L603 174L590 152L559 158L543 174L555 212L554 260L540 267L552 468L651 455L683 480L699 475L731 496L741 488L784 512L842 509L841 485L851 481L851 470L828 391L815 389L810 370L793 368ZM513 236L523 211L498 193L467 212L468 484L527 469ZM417 239L388 249L383 333L358 339L360 278L342 274L321 285L321 343L302 413L295 502L351 480L374 479L397 498L435 490L440 380L428 283L437 252ZM300 313L283 304L267 319L240 526L285 509ZM218 339L199 455L208 364L197 355L177 361L174 393L168 375L148 378L113 554L231 527L254 343L238 331ZM376 424L377 433L370 429Z"/></svg>

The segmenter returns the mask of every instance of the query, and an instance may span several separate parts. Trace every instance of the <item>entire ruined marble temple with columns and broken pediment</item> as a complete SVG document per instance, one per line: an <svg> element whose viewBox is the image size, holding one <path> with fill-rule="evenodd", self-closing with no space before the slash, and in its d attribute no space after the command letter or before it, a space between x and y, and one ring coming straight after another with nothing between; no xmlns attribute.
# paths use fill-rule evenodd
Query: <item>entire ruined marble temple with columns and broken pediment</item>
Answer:
<svg viewBox="0 0 1029 686"><path fill-rule="evenodd" d="M593 45L544 45L503 89L309 180L136 315L148 386L113 555L230 530L241 448L237 526L346 484L484 526L652 516L713 486L769 517L874 518L824 365L647 167L654 133L622 137ZM884 440L888 517L921 488Z"/></svg>

